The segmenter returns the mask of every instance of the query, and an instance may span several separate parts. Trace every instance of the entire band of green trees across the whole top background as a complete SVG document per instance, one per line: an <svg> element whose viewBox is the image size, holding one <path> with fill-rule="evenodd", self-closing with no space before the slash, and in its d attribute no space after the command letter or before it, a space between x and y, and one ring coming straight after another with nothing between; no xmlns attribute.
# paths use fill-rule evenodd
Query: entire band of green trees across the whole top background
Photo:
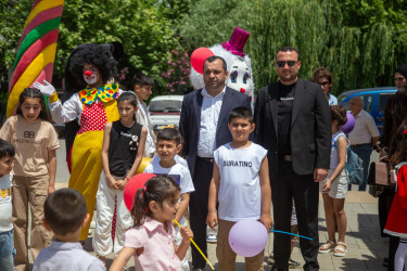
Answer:
<svg viewBox="0 0 407 271"><path fill-rule="evenodd" d="M0 93L8 89L33 2L0 1ZM173 82L185 81L180 68L173 78L163 76L171 50L191 53L221 43L236 26L251 33L244 51L257 87L277 79L275 55L282 46L298 48L301 77L320 66L331 70L335 94L392 86L395 67L407 62L407 0L65 0L53 82L61 86L75 47L118 40L125 48L120 82L130 87L132 75L142 72L155 80L155 93L168 93ZM178 87L176 92L185 88Z"/></svg>

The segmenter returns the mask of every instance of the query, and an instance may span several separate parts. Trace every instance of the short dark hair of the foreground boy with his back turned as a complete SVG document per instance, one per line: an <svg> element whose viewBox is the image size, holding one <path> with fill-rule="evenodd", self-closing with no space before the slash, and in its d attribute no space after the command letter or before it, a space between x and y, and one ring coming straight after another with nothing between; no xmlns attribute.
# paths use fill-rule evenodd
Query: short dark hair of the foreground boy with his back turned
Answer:
<svg viewBox="0 0 407 271"><path fill-rule="evenodd" d="M66 235L79 229L88 209L85 197L78 191L60 189L47 197L43 212L51 230Z"/></svg>

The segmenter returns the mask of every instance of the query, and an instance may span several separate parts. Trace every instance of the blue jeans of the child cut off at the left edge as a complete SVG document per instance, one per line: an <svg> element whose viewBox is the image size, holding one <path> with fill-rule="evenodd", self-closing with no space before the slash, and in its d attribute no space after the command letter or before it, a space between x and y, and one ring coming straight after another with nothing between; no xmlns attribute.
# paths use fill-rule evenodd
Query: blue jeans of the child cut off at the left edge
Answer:
<svg viewBox="0 0 407 271"><path fill-rule="evenodd" d="M14 230L0 232L0 270L14 270Z"/></svg>

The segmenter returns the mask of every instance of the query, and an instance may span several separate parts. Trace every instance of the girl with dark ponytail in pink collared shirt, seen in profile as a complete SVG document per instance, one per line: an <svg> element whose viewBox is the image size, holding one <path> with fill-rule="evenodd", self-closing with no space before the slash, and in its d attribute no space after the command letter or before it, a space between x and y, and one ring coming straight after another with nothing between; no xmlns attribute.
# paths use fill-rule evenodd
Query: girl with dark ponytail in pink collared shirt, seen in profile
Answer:
<svg viewBox="0 0 407 271"><path fill-rule="evenodd" d="M180 270L193 237L181 228L182 242L175 244L173 219L179 208L180 188L168 176L154 177L136 193L131 216L135 227L125 235L125 246L110 270L123 270L131 256L136 270Z"/></svg>

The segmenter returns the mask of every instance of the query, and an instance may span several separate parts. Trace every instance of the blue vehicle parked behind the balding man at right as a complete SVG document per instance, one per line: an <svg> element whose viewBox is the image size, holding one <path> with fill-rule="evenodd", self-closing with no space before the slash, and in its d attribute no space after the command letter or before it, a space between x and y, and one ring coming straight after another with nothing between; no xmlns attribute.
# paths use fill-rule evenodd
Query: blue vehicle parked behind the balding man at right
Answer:
<svg viewBox="0 0 407 271"><path fill-rule="evenodd" d="M383 115L385 104L391 95L397 91L396 87L357 89L341 93L338 96L338 103L349 109L349 100L354 96L360 96L364 101L364 109L374 118L380 134L383 128Z"/></svg>

